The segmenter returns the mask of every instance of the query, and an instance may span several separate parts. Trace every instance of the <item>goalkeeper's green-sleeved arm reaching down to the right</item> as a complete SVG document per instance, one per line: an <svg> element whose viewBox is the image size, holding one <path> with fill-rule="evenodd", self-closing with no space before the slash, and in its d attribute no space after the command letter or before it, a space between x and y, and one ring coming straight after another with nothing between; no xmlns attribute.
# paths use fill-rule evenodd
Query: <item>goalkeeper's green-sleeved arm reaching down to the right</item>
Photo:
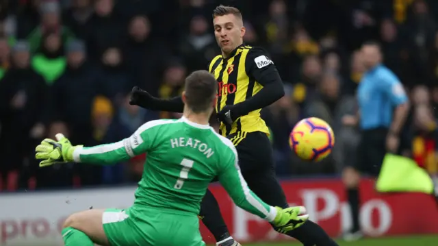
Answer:
<svg viewBox="0 0 438 246"><path fill-rule="evenodd" d="M227 193L233 199L234 203L240 208L266 219L274 221L277 210L261 201L252 190L248 188L238 165L237 152L235 147L229 142L229 153L223 156L224 161L219 164L219 182L227 190Z"/></svg>

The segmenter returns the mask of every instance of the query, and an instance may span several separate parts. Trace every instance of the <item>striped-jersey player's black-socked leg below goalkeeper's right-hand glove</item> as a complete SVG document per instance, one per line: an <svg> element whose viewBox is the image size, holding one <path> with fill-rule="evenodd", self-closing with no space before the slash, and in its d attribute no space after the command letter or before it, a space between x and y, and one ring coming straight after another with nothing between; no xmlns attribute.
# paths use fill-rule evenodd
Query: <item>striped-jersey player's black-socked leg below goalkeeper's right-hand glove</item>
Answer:
<svg viewBox="0 0 438 246"><path fill-rule="evenodd" d="M307 221L295 230L287 232L287 235L296 238L304 246L339 246L313 221Z"/></svg>

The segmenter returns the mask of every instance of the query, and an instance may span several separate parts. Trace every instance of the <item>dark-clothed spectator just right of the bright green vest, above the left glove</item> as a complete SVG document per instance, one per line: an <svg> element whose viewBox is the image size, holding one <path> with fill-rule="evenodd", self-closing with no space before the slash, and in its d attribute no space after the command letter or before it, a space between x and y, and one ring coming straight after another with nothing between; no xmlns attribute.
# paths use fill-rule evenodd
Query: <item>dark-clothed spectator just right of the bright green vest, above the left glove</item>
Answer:
<svg viewBox="0 0 438 246"><path fill-rule="evenodd" d="M66 72L52 86L52 127L67 129L72 141L89 145L92 101L97 95L104 95L105 84L87 60L83 42L68 43L66 53Z"/></svg>

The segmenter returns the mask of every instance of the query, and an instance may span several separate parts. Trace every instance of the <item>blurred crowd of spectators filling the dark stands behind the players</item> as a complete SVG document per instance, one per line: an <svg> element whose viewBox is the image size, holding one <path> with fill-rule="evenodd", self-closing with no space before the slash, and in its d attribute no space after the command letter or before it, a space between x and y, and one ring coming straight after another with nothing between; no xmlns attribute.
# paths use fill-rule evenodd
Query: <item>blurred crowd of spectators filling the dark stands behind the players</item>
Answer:
<svg viewBox="0 0 438 246"><path fill-rule="evenodd" d="M359 134L349 116L365 40L381 43L411 97L400 153L438 172L438 1L1 0L0 190L138 181L147 156L38 169L34 147L57 132L73 144L111 143L146 121L179 117L129 106L129 91L174 97L188 73L206 69L220 52L211 27L220 3L240 8L244 42L264 47L283 78L285 97L263 110L279 176L335 174L355 162ZM307 116L329 122L337 138L320 164L288 146Z"/></svg>

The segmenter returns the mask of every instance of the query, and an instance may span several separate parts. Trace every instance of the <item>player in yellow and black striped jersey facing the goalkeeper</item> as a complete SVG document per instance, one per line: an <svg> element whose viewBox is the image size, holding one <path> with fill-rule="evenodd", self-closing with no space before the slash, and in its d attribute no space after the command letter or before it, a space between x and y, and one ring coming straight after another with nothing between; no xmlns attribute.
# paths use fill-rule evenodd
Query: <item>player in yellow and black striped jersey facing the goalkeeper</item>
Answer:
<svg viewBox="0 0 438 246"><path fill-rule="evenodd" d="M287 207L285 194L276 180L269 130L260 117L262 108L283 97L283 82L266 51L243 44L245 27L239 10L220 5L213 17L214 33L222 54L211 60L208 69L218 81L216 112L221 122L220 134L235 145L242 175L251 190L272 206ZM183 110L181 97L160 100L139 88L133 88L131 104L150 110ZM230 236L218 203L209 190L201 203L200 217L214 234L217 245L240 245ZM288 235L305 246L337 245L311 221Z"/></svg>

